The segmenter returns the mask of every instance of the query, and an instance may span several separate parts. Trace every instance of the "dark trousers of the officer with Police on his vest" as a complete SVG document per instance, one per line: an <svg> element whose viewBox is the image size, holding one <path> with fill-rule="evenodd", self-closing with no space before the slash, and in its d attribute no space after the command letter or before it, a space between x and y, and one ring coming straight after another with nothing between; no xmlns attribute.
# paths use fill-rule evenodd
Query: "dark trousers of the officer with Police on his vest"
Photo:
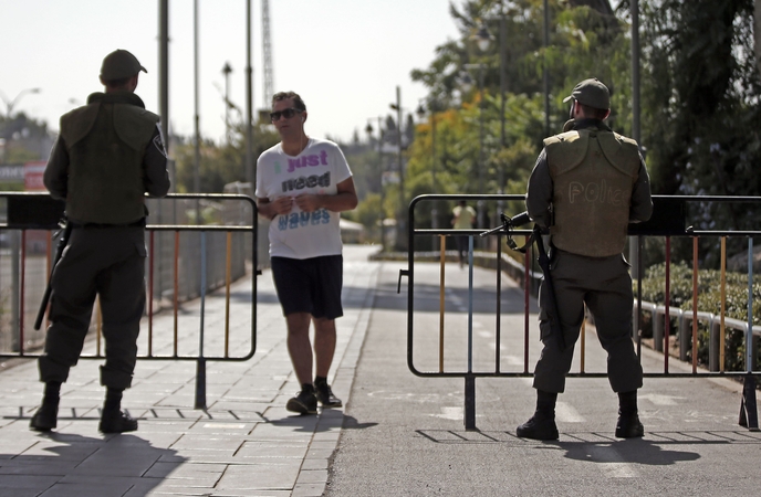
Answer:
<svg viewBox="0 0 761 497"><path fill-rule="evenodd" d="M629 392L643 384L643 370L632 341L632 277L623 255L585 257L553 251L552 282L565 350L550 329L548 285L540 288L540 330L544 348L536 362L533 385L546 392L563 392L573 350L584 319L584 305L594 317L601 345L607 351L607 376L615 392Z"/></svg>

